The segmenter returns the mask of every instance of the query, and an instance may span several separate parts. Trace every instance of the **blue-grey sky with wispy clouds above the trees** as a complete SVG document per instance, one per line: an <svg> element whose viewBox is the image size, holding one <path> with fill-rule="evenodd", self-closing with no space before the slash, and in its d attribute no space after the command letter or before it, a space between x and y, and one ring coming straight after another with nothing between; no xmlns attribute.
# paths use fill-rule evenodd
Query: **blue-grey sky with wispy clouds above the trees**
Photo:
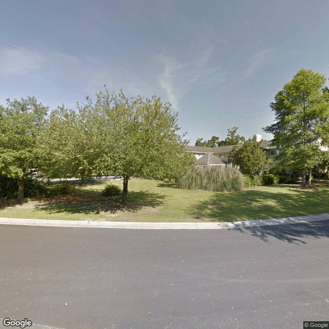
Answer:
<svg viewBox="0 0 329 329"><path fill-rule="evenodd" d="M269 103L301 68L328 77L327 0L0 2L0 103L50 108L106 84L172 103L190 144L272 123Z"/></svg>

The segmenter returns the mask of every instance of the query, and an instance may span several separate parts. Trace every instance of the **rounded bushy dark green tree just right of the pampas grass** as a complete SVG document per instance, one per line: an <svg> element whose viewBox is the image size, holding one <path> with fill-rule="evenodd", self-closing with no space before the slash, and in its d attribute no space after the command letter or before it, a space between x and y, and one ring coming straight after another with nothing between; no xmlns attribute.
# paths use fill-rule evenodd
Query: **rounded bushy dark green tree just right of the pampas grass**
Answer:
<svg viewBox="0 0 329 329"><path fill-rule="evenodd" d="M241 147L234 146L229 153L228 160L240 167L240 171L247 175L262 175L268 168L270 160L260 148L260 142L245 141Z"/></svg>

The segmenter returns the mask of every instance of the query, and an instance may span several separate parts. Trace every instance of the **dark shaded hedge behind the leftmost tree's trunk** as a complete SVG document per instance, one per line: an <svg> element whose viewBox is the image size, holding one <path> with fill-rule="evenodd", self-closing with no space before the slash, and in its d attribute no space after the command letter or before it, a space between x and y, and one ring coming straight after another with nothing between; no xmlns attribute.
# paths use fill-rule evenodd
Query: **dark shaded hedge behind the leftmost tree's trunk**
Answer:
<svg viewBox="0 0 329 329"><path fill-rule="evenodd" d="M18 195L17 178L0 176L0 198L16 198ZM55 195L68 195L74 193L76 187L71 184L45 184L33 178L25 181L24 197L49 197Z"/></svg>

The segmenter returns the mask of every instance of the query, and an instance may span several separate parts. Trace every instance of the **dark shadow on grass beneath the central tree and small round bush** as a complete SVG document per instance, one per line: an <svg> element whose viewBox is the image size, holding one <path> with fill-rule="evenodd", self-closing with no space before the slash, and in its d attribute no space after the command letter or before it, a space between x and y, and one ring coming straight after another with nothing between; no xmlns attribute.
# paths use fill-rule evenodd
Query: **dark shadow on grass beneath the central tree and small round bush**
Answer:
<svg viewBox="0 0 329 329"><path fill-rule="evenodd" d="M52 199L43 199L43 203L36 205L36 209L48 213L100 213L115 214L119 211L136 212L143 207L157 207L163 203L165 195L151 193L149 191L132 191L128 193L126 202L122 202L121 196L104 197L99 192L77 192L67 196L59 196Z"/></svg>

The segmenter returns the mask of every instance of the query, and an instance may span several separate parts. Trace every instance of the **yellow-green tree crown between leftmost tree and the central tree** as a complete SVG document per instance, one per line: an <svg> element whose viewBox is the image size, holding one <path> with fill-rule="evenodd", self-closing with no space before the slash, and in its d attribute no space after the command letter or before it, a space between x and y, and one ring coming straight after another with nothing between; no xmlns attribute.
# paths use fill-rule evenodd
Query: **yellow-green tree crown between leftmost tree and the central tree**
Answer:
<svg viewBox="0 0 329 329"><path fill-rule="evenodd" d="M77 103L77 111L62 105L50 114L39 138L44 154L42 173L48 177L72 175L84 180L97 174L110 127L92 100L86 100L84 106Z"/></svg>

